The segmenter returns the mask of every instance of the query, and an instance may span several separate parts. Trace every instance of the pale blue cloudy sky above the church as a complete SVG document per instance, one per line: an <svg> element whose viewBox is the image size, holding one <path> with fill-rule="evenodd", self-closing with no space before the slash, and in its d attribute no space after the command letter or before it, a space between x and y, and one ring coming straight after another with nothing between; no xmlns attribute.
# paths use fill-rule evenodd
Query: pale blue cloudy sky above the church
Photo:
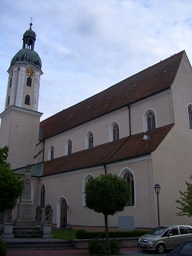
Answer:
<svg viewBox="0 0 192 256"><path fill-rule="evenodd" d="M181 50L192 62L191 0L1 0L0 113L30 17L42 59L42 119Z"/></svg>

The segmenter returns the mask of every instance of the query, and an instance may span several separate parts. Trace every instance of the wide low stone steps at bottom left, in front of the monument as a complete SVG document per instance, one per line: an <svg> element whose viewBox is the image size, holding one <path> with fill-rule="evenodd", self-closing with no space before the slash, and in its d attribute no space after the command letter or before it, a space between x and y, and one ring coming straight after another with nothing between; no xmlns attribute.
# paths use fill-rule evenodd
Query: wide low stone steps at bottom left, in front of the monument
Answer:
<svg viewBox="0 0 192 256"><path fill-rule="evenodd" d="M46 238L12 238L5 240L8 250L72 250L71 241Z"/></svg>

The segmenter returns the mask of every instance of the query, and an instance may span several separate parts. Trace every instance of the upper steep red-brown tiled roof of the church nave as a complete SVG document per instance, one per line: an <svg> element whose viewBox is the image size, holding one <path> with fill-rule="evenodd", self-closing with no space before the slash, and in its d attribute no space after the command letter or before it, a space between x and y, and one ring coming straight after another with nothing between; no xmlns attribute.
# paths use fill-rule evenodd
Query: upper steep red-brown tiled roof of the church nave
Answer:
<svg viewBox="0 0 192 256"><path fill-rule="evenodd" d="M123 106L170 88L184 50L126 78L86 100L70 106L41 122L43 138L50 138Z"/></svg>

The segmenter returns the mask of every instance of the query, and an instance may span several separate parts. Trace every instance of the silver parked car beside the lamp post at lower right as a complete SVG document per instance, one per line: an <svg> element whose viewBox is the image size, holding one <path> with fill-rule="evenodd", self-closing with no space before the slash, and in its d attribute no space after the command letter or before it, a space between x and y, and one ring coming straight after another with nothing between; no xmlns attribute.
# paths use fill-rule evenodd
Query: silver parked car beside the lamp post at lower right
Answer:
<svg viewBox="0 0 192 256"><path fill-rule="evenodd" d="M166 250L172 250L180 242L188 240L192 240L192 226L157 226L138 239L138 248L164 254Z"/></svg>

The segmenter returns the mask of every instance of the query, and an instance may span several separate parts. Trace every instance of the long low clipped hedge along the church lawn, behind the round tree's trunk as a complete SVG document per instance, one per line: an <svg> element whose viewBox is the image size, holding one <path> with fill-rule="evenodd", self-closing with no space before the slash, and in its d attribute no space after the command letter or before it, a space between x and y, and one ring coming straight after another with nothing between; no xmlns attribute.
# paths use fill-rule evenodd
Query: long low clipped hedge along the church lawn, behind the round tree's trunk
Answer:
<svg viewBox="0 0 192 256"><path fill-rule="evenodd" d="M134 230L134 231L113 231L109 232L110 238L138 238L146 234L148 230ZM76 231L77 239L94 239L106 238L106 232L87 232L86 230Z"/></svg>

